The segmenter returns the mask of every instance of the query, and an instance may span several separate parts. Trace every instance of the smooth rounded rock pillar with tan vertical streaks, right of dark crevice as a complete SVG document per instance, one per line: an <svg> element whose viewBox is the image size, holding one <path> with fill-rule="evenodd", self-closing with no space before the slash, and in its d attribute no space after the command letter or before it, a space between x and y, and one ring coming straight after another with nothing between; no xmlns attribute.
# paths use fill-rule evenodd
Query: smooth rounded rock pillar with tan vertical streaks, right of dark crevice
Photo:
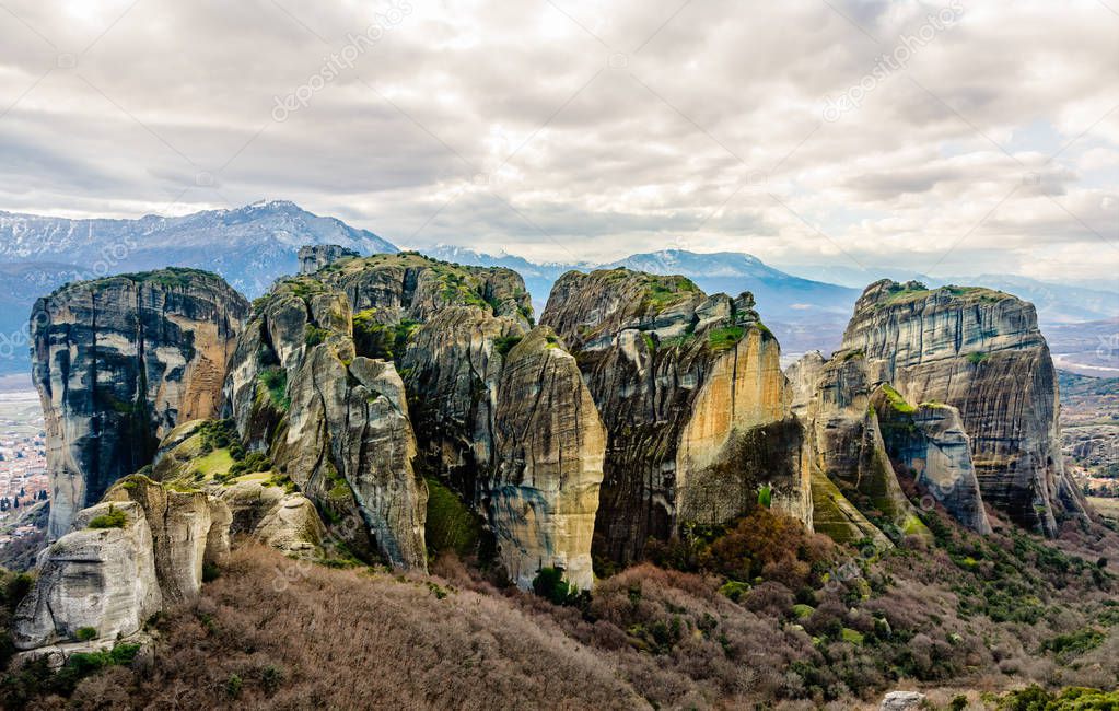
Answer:
<svg viewBox="0 0 1119 711"><path fill-rule="evenodd" d="M590 589L606 432L552 329L537 327L509 350L497 402L488 508L500 560L525 589L542 568Z"/></svg>

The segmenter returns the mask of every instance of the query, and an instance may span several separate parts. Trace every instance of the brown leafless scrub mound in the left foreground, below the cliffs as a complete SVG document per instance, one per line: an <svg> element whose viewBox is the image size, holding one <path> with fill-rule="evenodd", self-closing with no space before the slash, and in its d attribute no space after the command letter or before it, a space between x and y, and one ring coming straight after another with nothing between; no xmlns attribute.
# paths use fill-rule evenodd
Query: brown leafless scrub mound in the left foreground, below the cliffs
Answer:
<svg viewBox="0 0 1119 711"><path fill-rule="evenodd" d="M276 569L290 564L241 549L200 599L159 624L152 670L86 680L70 708L643 705L609 663L502 598L321 567L276 591Z"/></svg>

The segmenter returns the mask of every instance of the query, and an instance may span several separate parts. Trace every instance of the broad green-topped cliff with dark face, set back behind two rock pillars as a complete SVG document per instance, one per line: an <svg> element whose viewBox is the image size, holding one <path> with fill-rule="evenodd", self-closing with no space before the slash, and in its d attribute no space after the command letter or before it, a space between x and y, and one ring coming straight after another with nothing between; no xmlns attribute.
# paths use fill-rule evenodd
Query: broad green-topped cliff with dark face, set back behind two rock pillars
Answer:
<svg viewBox="0 0 1119 711"><path fill-rule="evenodd" d="M520 277L401 253L345 260L316 278L347 296L357 353L399 368L421 468L481 508L496 466L496 345L524 336L532 319Z"/></svg>

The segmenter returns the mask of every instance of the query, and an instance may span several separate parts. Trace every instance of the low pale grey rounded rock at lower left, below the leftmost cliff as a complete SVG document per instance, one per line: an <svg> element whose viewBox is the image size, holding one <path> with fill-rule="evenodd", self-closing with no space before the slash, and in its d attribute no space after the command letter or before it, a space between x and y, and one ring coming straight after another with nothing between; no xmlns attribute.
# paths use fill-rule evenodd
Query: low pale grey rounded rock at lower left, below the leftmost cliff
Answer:
<svg viewBox="0 0 1119 711"><path fill-rule="evenodd" d="M106 525L106 516L119 524ZM19 649L128 637L163 605L152 534L139 504L98 504L78 512L73 524L72 533L40 554L36 583L16 610Z"/></svg>

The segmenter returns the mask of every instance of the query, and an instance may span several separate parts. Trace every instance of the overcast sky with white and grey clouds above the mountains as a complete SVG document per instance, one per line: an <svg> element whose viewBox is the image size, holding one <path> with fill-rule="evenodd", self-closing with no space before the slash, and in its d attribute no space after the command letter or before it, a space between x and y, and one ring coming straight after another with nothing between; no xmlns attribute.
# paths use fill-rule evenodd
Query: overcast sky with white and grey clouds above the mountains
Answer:
<svg viewBox="0 0 1119 711"><path fill-rule="evenodd" d="M1119 0L0 0L0 209L261 198L534 259L1113 277Z"/></svg>

